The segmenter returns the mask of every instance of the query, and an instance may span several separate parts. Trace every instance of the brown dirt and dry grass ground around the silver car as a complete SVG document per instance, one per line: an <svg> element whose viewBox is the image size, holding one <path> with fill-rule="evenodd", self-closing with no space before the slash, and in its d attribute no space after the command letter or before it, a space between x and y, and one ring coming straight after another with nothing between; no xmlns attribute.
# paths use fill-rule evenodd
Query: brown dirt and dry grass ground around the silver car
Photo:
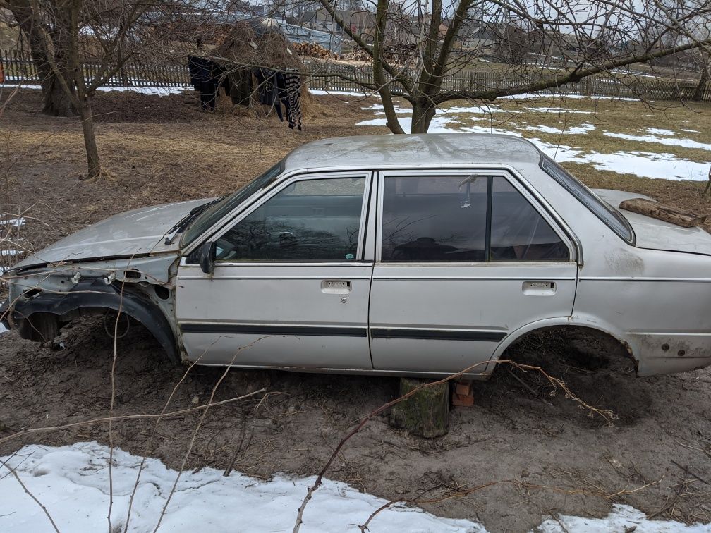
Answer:
<svg viewBox="0 0 711 533"><path fill-rule="evenodd" d="M95 112L109 176L85 181L80 126L75 119L44 117L38 103L37 92L23 93L0 119L2 210L27 218L22 237L30 249L129 208L226 193L305 141L383 131L353 126L372 112L338 97L319 97L304 132L295 132L277 119L203 114L188 95L102 94ZM639 192L668 190L667 198L656 197L670 203L688 197L704 205L697 200L699 184L629 183ZM100 318L65 328L63 350L14 332L1 335L0 438L107 414L113 343L104 329ZM474 407L451 412L447 436L408 436L376 416L348 441L327 476L388 499L453 496L422 507L478 520L492 532L528 531L559 513L604 516L615 502L659 519L711 522L711 371L641 379L624 365L600 369L572 351L560 338L542 338L509 355L543 365L585 402L615 411L614 425L587 416L562 391L554 394L538 373L499 367L491 381L475 385ZM140 327L119 340L118 354L116 414L161 411L185 369L166 364ZM223 372L193 369L171 409L205 402ZM395 397L397 379L230 370L215 399L262 387L265 398L208 412L188 468L226 468L235 461L235 470L260 477L314 475L358 419ZM179 467L198 418L191 413L162 421L149 454ZM140 455L154 425L114 424L114 445ZM108 443L107 427L24 436L2 443L0 455L31 442L90 440Z"/></svg>

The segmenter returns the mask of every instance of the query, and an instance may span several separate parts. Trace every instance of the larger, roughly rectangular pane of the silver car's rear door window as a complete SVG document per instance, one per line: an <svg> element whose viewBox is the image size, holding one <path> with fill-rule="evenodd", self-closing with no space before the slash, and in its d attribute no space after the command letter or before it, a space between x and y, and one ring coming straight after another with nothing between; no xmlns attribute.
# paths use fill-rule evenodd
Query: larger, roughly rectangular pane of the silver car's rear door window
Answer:
<svg viewBox="0 0 711 533"><path fill-rule="evenodd" d="M383 250L386 262L483 261L487 178L385 178Z"/></svg>

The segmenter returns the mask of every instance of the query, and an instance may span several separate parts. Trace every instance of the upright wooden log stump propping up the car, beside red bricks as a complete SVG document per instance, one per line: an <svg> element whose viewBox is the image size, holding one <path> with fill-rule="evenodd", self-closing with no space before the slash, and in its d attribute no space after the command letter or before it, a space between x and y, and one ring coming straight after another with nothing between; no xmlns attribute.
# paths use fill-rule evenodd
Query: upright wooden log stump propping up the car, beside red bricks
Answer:
<svg viewBox="0 0 711 533"><path fill-rule="evenodd" d="M426 383L424 379L400 379L400 396ZM390 425L412 435L434 438L449 431L449 383L427 387L395 404L390 411Z"/></svg>

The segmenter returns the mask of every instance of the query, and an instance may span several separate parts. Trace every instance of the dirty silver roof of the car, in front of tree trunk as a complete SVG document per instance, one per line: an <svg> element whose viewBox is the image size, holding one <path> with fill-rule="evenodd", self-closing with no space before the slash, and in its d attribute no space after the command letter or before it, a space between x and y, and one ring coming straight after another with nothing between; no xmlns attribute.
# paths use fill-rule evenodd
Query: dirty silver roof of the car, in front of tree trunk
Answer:
<svg viewBox="0 0 711 533"><path fill-rule="evenodd" d="M321 139L300 146L286 170L319 167L419 166L534 163L540 151L525 139L493 134L361 135Z"/></svg>

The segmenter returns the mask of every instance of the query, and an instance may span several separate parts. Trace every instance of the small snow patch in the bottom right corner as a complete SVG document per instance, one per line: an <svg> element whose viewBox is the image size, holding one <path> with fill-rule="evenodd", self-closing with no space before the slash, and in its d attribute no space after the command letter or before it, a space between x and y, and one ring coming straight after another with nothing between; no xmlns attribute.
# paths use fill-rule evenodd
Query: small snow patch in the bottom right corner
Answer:
<svg viewBox="0 0 711 533"><path fill-rule="evenodd" d="M648 520L646 515L629 505L615 504L605 518L582 518L559 515L545 520L540 533L598 533L601 531L635 533L708 533L704 524L686 525L673 520Z"/></svg>

